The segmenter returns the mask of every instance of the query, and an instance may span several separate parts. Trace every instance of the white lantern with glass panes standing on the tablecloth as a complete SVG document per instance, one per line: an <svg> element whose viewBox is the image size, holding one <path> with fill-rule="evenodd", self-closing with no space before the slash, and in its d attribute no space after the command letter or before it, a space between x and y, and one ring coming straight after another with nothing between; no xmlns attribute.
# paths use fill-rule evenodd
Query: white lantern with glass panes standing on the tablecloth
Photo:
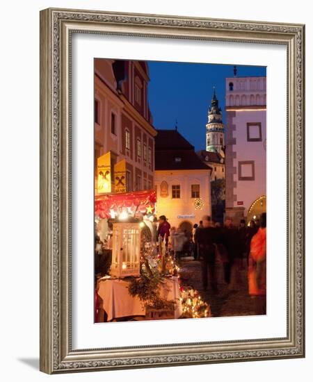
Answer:
<svg viewBox="0 0 313 382"><path fill-rule="evenodd" d="M113 223L111 275L139 276L141 227L136 223Z"/></svg>

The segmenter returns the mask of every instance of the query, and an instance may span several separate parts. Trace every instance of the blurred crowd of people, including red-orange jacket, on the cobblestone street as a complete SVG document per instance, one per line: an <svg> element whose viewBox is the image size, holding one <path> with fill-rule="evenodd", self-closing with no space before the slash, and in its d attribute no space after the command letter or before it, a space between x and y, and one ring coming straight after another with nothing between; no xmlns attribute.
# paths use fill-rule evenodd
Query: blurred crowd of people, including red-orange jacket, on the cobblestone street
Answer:
<svg viewBox="0 0 313 382"><path fill-rule="evenodd" d="M266 294L266 213L249 226L244 219L234 226L231 217L226 217L223 226L214 223L205 215L193 226L191 234L171 227L166 216L159 217L156 239L170 242L176 258L192 254L202 264L202 286L218 292L216 263L223 264L224 281L230 289L241 283L242 275L248 279L251 296Z"/></svg>

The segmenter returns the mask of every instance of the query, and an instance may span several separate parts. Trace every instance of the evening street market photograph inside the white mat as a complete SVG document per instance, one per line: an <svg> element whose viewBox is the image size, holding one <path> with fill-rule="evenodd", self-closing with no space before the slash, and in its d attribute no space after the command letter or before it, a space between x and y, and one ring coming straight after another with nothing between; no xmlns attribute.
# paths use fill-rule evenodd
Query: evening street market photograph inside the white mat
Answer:
<svg viewBox="0 0 313 382"><path fill-rule="evenodd" d="M266 67L94 60L95 323L266 315Z"/></svg>

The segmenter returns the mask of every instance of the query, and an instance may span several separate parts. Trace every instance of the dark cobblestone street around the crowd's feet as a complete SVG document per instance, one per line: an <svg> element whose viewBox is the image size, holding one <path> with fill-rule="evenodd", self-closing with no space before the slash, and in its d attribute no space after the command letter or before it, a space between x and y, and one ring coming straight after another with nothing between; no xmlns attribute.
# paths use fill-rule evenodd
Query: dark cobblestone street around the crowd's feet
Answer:
<svg viewBox="0 0 313 382"><path fill-rule="evenodd" d="M211 307L213 317L264 315L266 314L266 299L264 297L250 297L248 294L247 267L239 271L237 282L232 281L232 289L223 280L223 266L216 263L216 278L218 292L210 288L202 288L201 262L199 260L181 260L181 279L184 285L191 285L197 289L204 301Z"/></svg>

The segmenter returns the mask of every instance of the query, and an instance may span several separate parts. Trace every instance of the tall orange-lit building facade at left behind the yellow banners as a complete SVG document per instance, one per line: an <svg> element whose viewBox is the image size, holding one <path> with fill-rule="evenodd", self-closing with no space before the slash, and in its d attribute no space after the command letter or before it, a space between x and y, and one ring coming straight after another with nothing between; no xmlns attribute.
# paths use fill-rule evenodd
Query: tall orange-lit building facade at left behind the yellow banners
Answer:
<svg viewBox="0 0 313 382"><path fill-rule="evenodd" d="M95 59L95 194L97 159L111 156L114 168L126 160L126 192L154 188L154 136L147 103L147 63Z"/></svg>

